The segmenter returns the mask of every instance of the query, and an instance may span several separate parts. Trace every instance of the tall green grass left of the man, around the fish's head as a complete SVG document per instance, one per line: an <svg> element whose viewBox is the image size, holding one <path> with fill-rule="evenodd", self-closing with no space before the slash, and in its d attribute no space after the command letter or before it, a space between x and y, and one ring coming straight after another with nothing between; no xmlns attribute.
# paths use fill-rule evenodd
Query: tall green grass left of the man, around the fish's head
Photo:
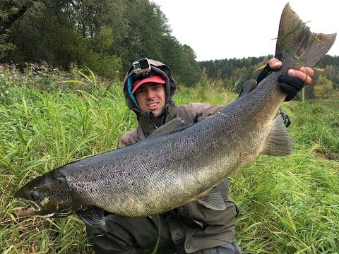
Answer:
<svg viewBox="0 0 339 254"><path fill-rule="evenodd" d="M62 164L117 148L136 126L121 84L91 94L14 87L0 105L0 250L8 253L85 253L83 223L68 219L18 219L13 193ZM105 94L105 95L104 95Z"/></svg>

